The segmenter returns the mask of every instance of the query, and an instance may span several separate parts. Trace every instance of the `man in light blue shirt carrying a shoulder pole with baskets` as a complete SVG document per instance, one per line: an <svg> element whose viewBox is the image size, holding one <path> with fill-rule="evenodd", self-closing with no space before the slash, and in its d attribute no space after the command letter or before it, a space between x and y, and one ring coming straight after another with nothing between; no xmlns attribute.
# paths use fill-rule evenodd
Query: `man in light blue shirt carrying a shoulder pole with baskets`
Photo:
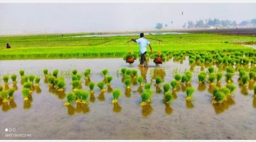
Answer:
<svg viewBox="0 0 256 142"><path fill-rule="evenodd" d="M146 62L146 45L149 45L151 53L153 52L149 40L146 40L146 38L144 38L144 33L140 33L140 38L138 38L137 40L132 40L135 43L139 43L139 53L141 54L141 62L139 64L139 67L142 67L142 64L144 64L144 67L148 67Z"/></svg>

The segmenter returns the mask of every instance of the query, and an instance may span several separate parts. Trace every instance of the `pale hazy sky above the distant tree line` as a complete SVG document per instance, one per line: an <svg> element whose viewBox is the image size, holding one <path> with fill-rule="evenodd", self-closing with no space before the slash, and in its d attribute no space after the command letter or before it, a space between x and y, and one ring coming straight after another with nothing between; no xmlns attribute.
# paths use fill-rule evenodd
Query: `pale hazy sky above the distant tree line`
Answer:
<svg viewBox="0 0 256 142"><path fill-rule="evenodd" d="M0 4L0 35L155 30L156 23L182 28L188 21L208 18L240 23L256 18L255 7L256 3Z"/></svg>

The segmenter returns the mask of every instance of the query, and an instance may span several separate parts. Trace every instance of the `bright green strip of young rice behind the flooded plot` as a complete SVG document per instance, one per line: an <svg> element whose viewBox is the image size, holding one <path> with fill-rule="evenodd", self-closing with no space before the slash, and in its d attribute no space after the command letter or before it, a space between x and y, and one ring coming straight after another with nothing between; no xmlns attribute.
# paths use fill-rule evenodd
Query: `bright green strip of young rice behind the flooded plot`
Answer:
<svg viewBox="0 0 256 142"><path fill-rule="evenodd" d="M148 38L164 40L159 45L155 40L151 42L154 51L168 50L245 50L243 45L233 43L252 42L256 39L246 35L219 35L219 34L183 34L181 35L146 35ZM11 44L11 49L1 48L0 59L11 58L74 58L90 56L118 56L122 57L127 51L139 53L137 43L127 44L127 40L138 36L112 36L90 38L62 38L58 35L42 35L0 37L0 45ZM145 38L146 38L145 37ZM225 43L228 41L228 43Z"/></svg>

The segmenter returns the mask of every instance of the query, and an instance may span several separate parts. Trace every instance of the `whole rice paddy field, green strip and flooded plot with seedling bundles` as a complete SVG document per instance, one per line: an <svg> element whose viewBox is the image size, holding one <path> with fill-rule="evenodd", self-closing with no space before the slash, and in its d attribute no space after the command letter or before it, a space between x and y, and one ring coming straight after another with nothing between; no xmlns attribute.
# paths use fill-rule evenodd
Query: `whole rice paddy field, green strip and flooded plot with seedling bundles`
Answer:
<svg viewBox="0 0 256 142"><path fill-rule="evenodd" d="M8 139L256 139L256 50L242 45L255 36L148 36L164 40L150 40L160 65L156 54L149 67L122 59L137 54L136 36L1 37L11 49L0 50L0 129L31 133Z"/></svg>

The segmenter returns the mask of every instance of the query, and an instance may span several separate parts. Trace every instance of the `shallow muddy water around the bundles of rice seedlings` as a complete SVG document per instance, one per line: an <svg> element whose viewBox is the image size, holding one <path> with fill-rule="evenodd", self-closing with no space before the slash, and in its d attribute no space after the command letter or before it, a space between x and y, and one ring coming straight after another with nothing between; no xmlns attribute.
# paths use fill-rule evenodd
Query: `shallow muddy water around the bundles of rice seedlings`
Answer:
<svg viewBox="0 0 256 142"><path fill-rule="evenodd" d="M0 61L1 77L4 74L18 74L24 69L25 74L40 75L43 79L43 68L52 71L60 70L59 75L66 78L65 93L56 93L41 80L40 88L33 92L33 101L24 103L21 94L21 80L18 75L17 91L14 102L0 104L0 139L256 139L256 99L253 95L253 84L247 88L238 87L238 75L233 77L237 90L235 97L222 105L211 104L213 88L208 84L198 86L197 75L201 67L194 67L192 86L196 88L193 99L185 101L185 86L174 92L174 100L165 105L162 88L154 86L154 77L164 77L171 82L174 72L183 74L190 70L188 60L156 66L149 62L148 70L139 70L138 60L129 65L122 59L86 59L86 60L11 60ZM154 90L151 105L139 107L141 102L139 84L132 84L132 90L125 89L120 69L127 67L137 69L144 76L144 82L151 82ZM65 107L65 94L70 92L70 72L73 69L83 72L92 69L91 80L103 80L100 71L107 68L114 77L108 92L100 95L95 87L95 94L90 96L88 106L74 104ZM119 70L119 72L117 72ZM202 69L207 70L207 68ZM4 85L3 80L0 82ZM82 89L88 90L88 82L82 80ZM223 78L223 83L225 80ZM9 81L9 87L13 84ZM6 86L7 87L7 86ZM112 89L122 89L119 104L113 105ZM16 129L6 132L4 129ZM31 133L26 138L6 138L8 133Z"/></svg>

